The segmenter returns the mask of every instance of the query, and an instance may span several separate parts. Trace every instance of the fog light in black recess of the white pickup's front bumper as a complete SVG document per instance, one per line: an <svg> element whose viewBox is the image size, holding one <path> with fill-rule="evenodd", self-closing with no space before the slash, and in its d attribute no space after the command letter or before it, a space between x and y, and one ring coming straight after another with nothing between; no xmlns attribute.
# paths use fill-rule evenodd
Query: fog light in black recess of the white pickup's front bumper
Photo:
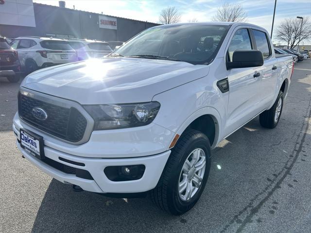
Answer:
<svg viewBox="0 0 311 233"><path fill-rule="evenodd" d="M107 166L104 173L110 181L134 181L139 180L144 172L145 166L128 165L128 166Z"/></svg>

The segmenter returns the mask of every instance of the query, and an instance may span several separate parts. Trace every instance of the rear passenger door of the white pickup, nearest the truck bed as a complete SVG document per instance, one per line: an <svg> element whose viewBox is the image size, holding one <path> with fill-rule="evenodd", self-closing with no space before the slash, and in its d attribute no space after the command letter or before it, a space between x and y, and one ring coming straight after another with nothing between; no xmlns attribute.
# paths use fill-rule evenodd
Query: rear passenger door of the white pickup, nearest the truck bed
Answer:
<svg viewBox="0 0 311 233"><path fill-rule="evenodd" d="M262 99L262 104L268 107L275 97L277 69L281 69L281 67L277 66L277 60L272 51L273 47L270 44L268 34L257 29L252 29L251 31L254 36L256 49L262 52L264 58L264 64L260 73L262 87L260 88L259 96Z"/></svg>

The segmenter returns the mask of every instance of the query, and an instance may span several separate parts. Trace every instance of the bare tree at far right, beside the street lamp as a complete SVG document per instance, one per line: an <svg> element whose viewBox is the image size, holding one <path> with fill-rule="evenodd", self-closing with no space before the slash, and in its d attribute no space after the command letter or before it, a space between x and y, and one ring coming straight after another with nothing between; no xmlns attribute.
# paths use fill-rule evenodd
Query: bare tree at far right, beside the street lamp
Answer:
<svg viewBox="0 0 311 233"><path fill-rule="evenodd" d="M304 17L303 22L297 18L286 18L276 29L276 40L285 41L287 48L290 49L294 49L298 43L308 39L311 39L311 22L309 17Z"/></svg>

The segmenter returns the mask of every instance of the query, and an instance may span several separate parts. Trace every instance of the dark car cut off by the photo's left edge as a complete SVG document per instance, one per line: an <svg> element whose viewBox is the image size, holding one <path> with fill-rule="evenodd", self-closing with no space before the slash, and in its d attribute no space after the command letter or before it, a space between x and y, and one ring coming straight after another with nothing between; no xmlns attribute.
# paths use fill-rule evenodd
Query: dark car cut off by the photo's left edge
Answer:
<svg viewBox="0 0 311 233"><path fill-rule="evenodd" d="M12 49L5 37L0 36L0 77L6 77L9 82L17 83L19 74L17 50Z"/></svg>

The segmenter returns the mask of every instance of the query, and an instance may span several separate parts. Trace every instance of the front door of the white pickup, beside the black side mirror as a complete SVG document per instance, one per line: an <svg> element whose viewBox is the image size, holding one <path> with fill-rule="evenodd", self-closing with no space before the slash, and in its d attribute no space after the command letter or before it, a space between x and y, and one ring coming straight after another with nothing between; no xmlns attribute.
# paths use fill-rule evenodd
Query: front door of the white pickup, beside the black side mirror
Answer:
<svg viewBox="0 0 311 233"><path fill-rule="evenodd" d="M227 48L226 60L232 61L235 50L252 50L254 42L248 28L238 27ZM261 112L261 79L254 74L261 72L261 67L234 68L227 70L229 100L225 135L234 132L247 121Z"/></svg>

